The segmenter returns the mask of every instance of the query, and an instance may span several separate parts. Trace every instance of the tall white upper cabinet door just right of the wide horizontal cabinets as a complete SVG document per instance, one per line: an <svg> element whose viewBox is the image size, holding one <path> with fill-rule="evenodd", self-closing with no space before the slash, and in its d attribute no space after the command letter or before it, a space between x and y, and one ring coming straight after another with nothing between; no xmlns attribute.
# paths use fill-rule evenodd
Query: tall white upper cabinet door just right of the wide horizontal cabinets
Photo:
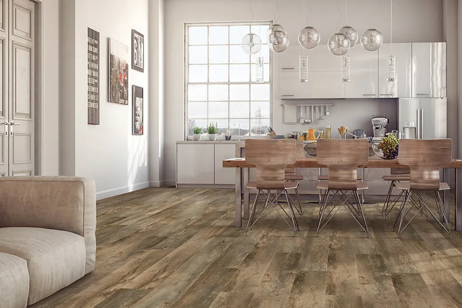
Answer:
<svg viewBox="0 0 462 308"><path fill-rule="evenodd" d="M345 97L376 98L378 96L378 52L368 51L360 44L353 46L351 56L351 81L345 82Z"/></svg>

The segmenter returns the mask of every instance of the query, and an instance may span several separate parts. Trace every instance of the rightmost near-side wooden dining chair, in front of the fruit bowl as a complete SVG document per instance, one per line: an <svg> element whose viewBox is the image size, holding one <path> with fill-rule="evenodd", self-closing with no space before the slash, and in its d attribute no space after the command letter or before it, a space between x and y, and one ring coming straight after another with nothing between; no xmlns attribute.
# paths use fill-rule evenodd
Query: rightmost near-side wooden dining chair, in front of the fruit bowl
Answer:
<svg viewBox="0 0 462 308"><path fill-rule="evenodd" d="M448 165L452 161L452 140L451 139L401 139L399 141L398 162L408 165L411 169L411 177L408 183L395 183L396 188L401 189L405 194L405 199L401 202L393 231L399 220L398 237L409 225L414 217L422 210L429 213L444 231L451 238L451 228L442 204L439 191L449 189L447 183L440 183L439 170L441 166ZM430 197L426 198L425 192L431 192ZM414 195L414 205L418 204L418 210L411 219L402 226L404 218L409 214L412 206L408 209L408 203ZM427 203L434 197L438 218L433 214ZM449 214L449 213L448 213ZM445 226L446 223L446 226Z"/></svg>

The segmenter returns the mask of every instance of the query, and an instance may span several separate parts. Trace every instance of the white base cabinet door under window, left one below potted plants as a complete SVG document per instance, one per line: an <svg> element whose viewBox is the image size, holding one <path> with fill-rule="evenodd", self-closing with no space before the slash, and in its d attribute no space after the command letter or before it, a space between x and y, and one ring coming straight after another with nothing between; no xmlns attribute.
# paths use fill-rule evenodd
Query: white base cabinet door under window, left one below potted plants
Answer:
<svg viewBox="0 0 462 308"><path fill-rule="evenodd" d="M177 144L177 183L214 184L214 144Z"/></svg>

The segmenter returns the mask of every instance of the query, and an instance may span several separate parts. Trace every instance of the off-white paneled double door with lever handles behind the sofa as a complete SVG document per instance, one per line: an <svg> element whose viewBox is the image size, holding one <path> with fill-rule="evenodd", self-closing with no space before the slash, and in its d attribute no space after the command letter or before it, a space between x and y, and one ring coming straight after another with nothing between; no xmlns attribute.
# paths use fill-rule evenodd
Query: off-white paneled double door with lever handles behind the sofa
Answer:
<svg viewBox="0 0 462 308"><path fill-rule="evenodd" d="M34 8L0 0L0 176L34 175Z"/></svg>

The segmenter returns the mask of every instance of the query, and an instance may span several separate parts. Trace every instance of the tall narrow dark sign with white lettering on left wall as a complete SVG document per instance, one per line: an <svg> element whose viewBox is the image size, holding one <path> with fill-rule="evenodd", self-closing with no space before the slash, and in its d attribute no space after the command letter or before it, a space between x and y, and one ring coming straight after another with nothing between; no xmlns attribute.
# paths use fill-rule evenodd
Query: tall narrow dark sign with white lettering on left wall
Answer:
<svg viewBox="0 0 462 308"><path fill-rule="evenodd" d="M100 32L88 28L88 124L100 124Z"/></svg>

